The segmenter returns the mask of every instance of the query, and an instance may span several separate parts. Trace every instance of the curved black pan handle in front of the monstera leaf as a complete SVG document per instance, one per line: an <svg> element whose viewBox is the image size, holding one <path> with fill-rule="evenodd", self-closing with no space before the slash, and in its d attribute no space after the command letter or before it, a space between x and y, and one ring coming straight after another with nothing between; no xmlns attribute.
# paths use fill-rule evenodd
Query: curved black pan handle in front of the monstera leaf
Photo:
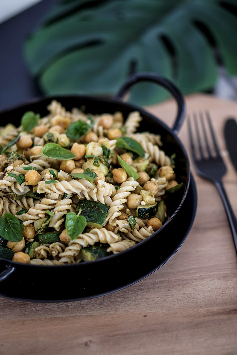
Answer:
<svg viewBox="0 0 237 355"><path fill-rule="evenodd" d="M157 83L164 88L166 88L176 99L176 102L178 104L178 112L176 115L176 119L174 121L172 131L174 134L177 134L178 131L180 130L184 116L185 116L185 104L184 104L184 98L182 93L179 91L179 89L168 79L163 78L162 76L158 76L155 73L151 72L141 72L138 74L132 74L128 77L128 79L125 81L122 87L120 87L118 93L115 95L115 99L121 101L128 91L128 89L135 83L138 83L139 81L151 81L154 83Z"/></svg>

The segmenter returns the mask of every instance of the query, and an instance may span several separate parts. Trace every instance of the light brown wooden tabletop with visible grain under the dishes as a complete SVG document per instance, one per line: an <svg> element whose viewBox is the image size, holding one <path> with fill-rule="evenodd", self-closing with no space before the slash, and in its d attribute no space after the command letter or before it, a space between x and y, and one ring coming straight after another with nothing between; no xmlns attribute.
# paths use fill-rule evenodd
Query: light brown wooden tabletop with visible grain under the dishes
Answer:
<svg viewBox="0 0 237 355"><path fill-rule="evenodd" d="M237 214L237 174L223 140L223 124L237 117L237 103L201 94L186 103L188 113L210 111ZM171 124L175 108L168 101L148 110ZM186 121L179 137L189 152ZM1 298L0 354L236 355L237 257L215 187L194 177L196 219L171 260L139 283L93 300L33 304ZM55 287L66 287L66 280Z"/></svg>

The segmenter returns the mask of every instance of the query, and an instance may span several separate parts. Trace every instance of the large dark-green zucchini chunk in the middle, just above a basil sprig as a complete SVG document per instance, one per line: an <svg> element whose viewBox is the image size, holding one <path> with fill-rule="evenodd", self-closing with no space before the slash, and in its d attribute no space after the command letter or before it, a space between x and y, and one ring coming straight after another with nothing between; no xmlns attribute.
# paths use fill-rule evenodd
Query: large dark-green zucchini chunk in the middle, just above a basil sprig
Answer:
<svg viewBox="0 0 237 355"><path fill-rule="evenodd" d="M81 210L80 215L86 218L90 228L102 228L108 209L106 204L89 200L80 200L76 206L76 211Z"/></svg>

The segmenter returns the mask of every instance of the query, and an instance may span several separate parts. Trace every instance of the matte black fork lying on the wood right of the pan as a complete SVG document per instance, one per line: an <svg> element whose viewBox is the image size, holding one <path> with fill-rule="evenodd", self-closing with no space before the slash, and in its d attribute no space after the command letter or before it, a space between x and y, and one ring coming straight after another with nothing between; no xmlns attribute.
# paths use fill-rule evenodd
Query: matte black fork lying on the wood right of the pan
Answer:
<svg viewBox="0 0 237 355"><path fill-rule="evenodd" d="M191 148L192 148L192 156L193 156L193 161L194 161L194 165L196 168L196 172L201 178L206 179L206 180L210 180L216 186L216 188L220 194L222 203L224 205L225 211L226 211L226 215L228 218L228 222L230 224L231 233L233 236L233 241L235 244L235 250L236 250L236 254L237 254L237 219L235 217L235 214L233 212L230 201L227 197L225 188L222 183L222 176L225 175L225 173L226 173L226 166L225 166L225 163L223 162L223 159L220 155L220 150L219 150L219 147L218 147L215 135L214 135L212 125L211 125L210 115L208 112L206 112L206 119L207 119L208 126L210 129L210 135L211 135L211 141L212 141L211 143L214 147L215 154L211 153L211 147L210 147L210 143L208 141L208 136L207 136L206 129L205 129L203 114L200 113L199 116L200 116L200 123L201 123L202 131L203 131L205 145L203 145L201 143L197 115L194 114L193 116L194 116L194 126L195 126L195 131L196 131L196 138L197 138L197 142L198 142L197 152L199 153L200 158L197 157L196 149L194 147L194 140L193 140L193 133L192 133L192 129L191 129L190 118L188 118L188 129L189 129L190 144L191 144ZM204 154L204 150L205 150L205 154Z"/></svg>

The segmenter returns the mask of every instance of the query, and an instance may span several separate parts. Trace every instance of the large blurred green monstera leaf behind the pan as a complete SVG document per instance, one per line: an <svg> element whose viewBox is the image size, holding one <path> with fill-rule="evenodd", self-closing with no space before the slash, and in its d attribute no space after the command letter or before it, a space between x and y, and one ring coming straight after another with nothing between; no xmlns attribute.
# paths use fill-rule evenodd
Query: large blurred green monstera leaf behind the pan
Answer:
<svg viewBox="0 0 237 355"><path fill-rule="evenodd" d="M236 0L60 1L27 39L26 60L48 94L115 94L139 71L165 76L183 93L209 89L217 67L202 28L236 74L235 6ZM151 104L166 95L155 84L139 83L129 100Z"/></svg>

